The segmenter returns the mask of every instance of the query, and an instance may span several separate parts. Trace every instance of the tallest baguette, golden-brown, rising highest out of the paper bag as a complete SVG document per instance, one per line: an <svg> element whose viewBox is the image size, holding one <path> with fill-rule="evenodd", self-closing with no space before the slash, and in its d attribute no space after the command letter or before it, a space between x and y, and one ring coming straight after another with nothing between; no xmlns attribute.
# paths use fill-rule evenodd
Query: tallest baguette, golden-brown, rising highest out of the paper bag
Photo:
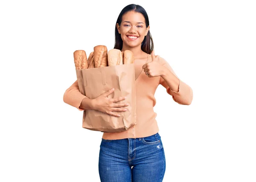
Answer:
<svg viewBox="0 0 256 182"><path fill-rule="evenodd" d="M108 66L108 49L106 46L95 46L93 48L95 68Z"/></svg>

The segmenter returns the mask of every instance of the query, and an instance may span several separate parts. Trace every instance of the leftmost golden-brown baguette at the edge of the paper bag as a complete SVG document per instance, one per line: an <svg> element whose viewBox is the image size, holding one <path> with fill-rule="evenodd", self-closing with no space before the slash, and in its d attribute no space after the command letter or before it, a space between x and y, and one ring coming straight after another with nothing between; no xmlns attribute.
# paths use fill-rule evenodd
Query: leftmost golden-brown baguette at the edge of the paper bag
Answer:
<svg viewBox="0 0 256 182"><path fill-rule="evenodd" d="M76 50L74 52L74 62L76 69L88 68L87 56L84 50Z"/></svg>

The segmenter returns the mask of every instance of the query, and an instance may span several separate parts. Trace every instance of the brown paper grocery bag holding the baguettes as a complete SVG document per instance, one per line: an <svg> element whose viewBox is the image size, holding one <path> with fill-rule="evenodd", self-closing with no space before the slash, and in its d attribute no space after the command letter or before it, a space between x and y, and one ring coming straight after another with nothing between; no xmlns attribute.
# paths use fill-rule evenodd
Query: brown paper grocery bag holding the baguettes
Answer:
<svg viewBox="0 0 256 182"><path fill-rule="evenodd" d="M109 98L127 97L127 111L116 112L121 117L113 117L96 110L85 110L83 128L102 132L121 132L136 124L136 88L134 63L100 68L76 70L81 94L94 99L105 91L115 88Z"/></svg>

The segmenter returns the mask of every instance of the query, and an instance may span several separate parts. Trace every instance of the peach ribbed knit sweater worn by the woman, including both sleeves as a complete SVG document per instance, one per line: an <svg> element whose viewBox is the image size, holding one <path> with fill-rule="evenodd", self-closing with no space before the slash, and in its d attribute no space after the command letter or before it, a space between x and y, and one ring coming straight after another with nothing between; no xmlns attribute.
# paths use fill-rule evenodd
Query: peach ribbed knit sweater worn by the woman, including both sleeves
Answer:
<svg viewBox="0 0 256 182"><path fill-rule="evenodd" d="M148 54L148 60L146 63L151 62L151 55ZM172 70L169 63L160 57L160 63L168 68L176 77L177 75ZM154 93L158 85L163 85L172 99L181 105L190 105L193 99L192 89L185 82L180 81L178 92L172 91L162 77L149 78L143 71L142 66L145 63L134 63L135 73L140 73L136 80L136 105L137 105L137 124L134 127L129 128L127 131L122 132L104 132L103 139L124 139L124 138L140 138L148 137L156 134L159 131L156 116L153 107L156 104ZM69 87L64 93L63 100L65 103L72 105L79 109L81 101L85 98L83 94L79 92L79 86L77 80Z"/></svg>

